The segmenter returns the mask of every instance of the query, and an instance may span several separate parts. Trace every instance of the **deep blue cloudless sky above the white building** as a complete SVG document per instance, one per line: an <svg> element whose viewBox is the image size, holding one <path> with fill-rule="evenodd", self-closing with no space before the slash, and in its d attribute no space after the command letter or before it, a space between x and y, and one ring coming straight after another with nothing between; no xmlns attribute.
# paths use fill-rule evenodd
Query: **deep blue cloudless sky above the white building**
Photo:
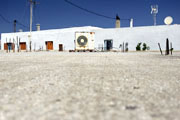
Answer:
<svg viewBox="0 0 180 120"><path fill-rule="evenodd" d="M33 30L35 24L41 24L41 29L56 29L78 26L97 26L113 28L115 20L87 13L64 0L36 0L40 4L34 7ZM134 26L151 26L153 17L151 5L159 6L157 25L164 24L166 16L172 16L173 24L180 24L180 0L69 0L83 8L109 17L119 15L121 19L134 19ZM0 14L8 21L18 20L29 26L28 0L0 0ZM128 27L129 21L122 21L122 27ZM29 29L17 24L17 30ZM0 33L13 32L13 23L8 23L0 17Z"/></svg>

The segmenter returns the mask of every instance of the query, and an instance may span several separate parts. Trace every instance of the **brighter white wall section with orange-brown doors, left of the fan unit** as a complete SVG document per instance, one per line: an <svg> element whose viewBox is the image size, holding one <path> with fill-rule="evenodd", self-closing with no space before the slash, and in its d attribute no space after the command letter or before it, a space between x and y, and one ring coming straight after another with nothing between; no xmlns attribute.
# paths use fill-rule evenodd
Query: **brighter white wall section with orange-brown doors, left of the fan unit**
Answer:
<svg viewBox="0 0 180 120"><path fill-rule="evenodd" d="M63 44L63 49L74 50L75 32L91 32L94 29L101 29L98 27L75 27L55 30L42 30L32 32L32 50L43 48L46 49L45 41L53 41L53 49L58 50L59 44ZM2 34L2 50L4 50L4 43L17 41L17 37L21 42L26 42L29 49L29 32L18 33L3 33ZM17 49L17 46L15 46Z"/></svg>

